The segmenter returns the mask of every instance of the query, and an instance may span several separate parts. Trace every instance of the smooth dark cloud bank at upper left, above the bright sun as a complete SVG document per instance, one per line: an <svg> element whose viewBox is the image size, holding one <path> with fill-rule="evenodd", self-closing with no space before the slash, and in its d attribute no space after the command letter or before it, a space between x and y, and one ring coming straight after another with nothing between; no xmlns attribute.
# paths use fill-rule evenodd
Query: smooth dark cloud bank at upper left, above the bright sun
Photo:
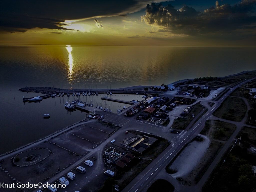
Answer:
<svg viewBox="0 0 256 192"><path fill-rule="evenodd" d="M0 2L0 30L26 32L32 28L67 29L62 24L65 20L124 16L141 10L150 2L149 0L3 0Z"/></svg>

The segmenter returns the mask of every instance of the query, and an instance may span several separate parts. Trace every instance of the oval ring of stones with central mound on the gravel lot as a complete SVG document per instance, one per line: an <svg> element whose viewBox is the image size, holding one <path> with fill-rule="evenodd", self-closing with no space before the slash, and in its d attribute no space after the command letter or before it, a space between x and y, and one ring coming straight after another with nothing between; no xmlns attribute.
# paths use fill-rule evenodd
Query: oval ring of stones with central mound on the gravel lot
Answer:
<svg viewBox="0 0 256 192"><path fill-rule="evenodd" d="M51 151L48 148L33 148L20 152L13 158L13 164L18 167L27 167L35 165L50 155Z"/></svg>

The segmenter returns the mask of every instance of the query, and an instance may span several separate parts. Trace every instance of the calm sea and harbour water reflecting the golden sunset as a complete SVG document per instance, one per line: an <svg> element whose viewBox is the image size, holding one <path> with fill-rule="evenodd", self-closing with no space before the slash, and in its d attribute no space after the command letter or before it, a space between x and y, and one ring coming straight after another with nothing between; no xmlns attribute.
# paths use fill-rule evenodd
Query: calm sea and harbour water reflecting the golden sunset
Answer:
<svg viewBox="0 0 256 192"><path fill-rule="evenodd" d="M69 98L24 103L23 97L42 94L18 91L23 87L56 89L155 86L196 77L222 77L255 70L256 48L169 46L0 45L0 154L38 140L86 117L69 112ZM81 96L94 106L122 109L124 104ZM141 95L112 95L140 100ZM126 105L128 107L129 105ZM43 114L50 118L44 119Z"/></svg>

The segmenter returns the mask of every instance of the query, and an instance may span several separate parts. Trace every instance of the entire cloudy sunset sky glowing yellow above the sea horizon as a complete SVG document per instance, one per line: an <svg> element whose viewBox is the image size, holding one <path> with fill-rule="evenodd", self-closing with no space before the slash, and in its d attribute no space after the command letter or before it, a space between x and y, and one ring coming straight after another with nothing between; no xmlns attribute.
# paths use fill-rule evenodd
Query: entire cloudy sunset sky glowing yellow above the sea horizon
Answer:
<svg viewBox="0 0 256 192"><path fill-rule="evenodd" d="M0 44L255 46L256 0L0 2Z"/></svg>

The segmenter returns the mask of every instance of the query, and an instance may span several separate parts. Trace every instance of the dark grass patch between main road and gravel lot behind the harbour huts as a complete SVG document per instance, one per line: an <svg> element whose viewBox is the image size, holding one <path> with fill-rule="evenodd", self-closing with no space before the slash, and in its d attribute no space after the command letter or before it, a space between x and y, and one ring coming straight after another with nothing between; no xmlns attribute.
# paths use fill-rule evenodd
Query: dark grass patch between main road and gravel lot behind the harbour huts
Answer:
<svg viewBox="0 0 256 192"><path fill-rule="evenodd" d="M184 109L185 109L185 106L184 106ZM191 109L189 111L189 114L187 114L187 116L185 116L184 118L175 119L173 121L172 128L179 129L179 130L186 129L189 123L194 119L194 117L192 117L191 115L194 114L196 117L203 109L205 109L205 107L203 107L199 102L191 106Z"/></svg>

